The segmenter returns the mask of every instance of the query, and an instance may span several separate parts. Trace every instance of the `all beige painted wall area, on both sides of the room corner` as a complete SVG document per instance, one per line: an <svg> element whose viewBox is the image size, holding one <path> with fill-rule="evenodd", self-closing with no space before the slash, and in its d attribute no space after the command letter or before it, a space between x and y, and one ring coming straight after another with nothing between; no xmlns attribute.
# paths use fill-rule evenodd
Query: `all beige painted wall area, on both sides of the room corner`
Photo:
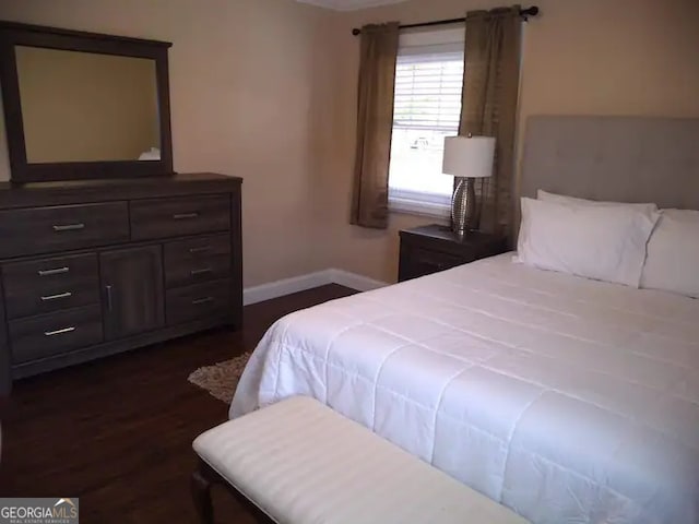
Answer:
<svg viewBox="0 0 699 524"><path fill-rule="evenodd" d="M699 2L535 3L543 15L525 28L522 121L533 114L699 117ZM4 2L0 17L175 43L176 169L245 177L249 286L330 266L395 278L398 229L429 219L394 215L387 231L347 224L358 51L350 31L501 4L412 0L334 13L292 0L23 0Z"/></svg>

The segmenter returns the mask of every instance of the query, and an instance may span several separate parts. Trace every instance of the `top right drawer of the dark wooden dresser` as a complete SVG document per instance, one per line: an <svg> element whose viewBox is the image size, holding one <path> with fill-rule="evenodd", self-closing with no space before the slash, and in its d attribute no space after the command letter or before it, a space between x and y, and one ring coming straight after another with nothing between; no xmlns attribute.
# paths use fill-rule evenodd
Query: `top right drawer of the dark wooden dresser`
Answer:
<svg viewBox="0 0 699 524"><path fill-rule="evenodd" d="M131 202L131 238L134 240L224 231L229 228L229 195Z"/></svg>

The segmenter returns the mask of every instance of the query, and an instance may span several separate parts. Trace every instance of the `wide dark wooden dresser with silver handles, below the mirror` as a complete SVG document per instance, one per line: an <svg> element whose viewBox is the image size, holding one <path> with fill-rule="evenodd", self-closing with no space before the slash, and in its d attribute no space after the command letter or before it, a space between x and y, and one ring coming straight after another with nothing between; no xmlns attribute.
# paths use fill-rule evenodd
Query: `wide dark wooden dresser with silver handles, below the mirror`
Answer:
<svg viewBox="0 0 699 524"><path fill-rule="evenodd" d="M0 184L0 392L242 319L241 179Z"/></svg>

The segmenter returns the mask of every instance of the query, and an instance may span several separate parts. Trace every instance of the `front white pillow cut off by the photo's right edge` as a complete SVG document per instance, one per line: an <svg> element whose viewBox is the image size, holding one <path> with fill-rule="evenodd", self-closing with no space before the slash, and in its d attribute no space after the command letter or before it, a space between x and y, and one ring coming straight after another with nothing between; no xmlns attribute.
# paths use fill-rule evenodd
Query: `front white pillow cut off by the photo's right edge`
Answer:
<svg viewBox="0 0 699 524"><path fill-rule="evenodd" d="M661 213L648 242L641 287L699 298L699 211Z"/></svg>

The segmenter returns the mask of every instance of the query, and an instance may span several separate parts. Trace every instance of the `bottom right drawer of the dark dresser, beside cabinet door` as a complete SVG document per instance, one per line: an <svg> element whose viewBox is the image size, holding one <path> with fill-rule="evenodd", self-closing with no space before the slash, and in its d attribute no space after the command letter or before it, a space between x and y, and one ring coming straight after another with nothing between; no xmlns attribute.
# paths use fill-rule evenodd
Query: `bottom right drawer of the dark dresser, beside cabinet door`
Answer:
<svg viewBox="0 0 699 524"><path fill-rule="evenodd" d="M214 281L167 291L168 324L223 314L230 310L230 281Z"/></svg>

